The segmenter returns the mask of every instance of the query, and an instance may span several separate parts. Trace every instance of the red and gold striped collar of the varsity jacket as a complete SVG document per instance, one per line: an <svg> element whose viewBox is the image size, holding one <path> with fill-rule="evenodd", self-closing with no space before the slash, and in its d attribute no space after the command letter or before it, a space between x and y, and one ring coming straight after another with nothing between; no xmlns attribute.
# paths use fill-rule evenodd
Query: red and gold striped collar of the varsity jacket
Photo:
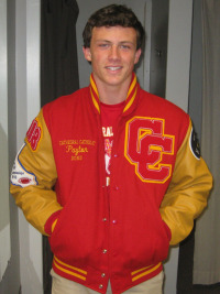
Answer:
<svg viewBox="0 0 220 294"><path fill-rule="evenodd" d="M131 110L133 109L133 106L135 105L134 102L136 101L136 92L139 89L139 83L136 80L136 75L133 73L132 74L132 80L129 87L129 91L127 95L127 100L125 100L125 106L123 109L123 115L128 115L131 112ZM94 79L92 74L90 75L90 95L91 95L91 100L92 104L95 106L96 111L98 111L98 113L100 113L100 100L99 100L99 92L98 92L98 88L96 85L96 81Z"/></svg>

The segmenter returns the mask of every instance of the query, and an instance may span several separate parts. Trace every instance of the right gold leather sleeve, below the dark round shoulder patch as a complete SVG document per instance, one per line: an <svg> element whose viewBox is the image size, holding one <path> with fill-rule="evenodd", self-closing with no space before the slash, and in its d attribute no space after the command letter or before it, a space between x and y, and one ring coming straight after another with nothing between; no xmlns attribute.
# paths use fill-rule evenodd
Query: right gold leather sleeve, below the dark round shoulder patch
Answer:
<svg viewBox="0 0 220 294"><path fill-rule="evenodd" d="M178 150L173 178L161 205L163 220L172 232L170 244L184 240L196 219L207 206L212 187L212 176L200 157L191 151L190 123L186 138Z"/></svg>

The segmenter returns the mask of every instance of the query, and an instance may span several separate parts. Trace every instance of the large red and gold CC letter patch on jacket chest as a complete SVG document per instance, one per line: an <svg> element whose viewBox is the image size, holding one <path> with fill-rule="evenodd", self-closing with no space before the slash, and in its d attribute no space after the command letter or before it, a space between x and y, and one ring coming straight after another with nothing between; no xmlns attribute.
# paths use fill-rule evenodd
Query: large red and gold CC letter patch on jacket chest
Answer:
<svg viewBox="0 0 220 294"><path fill-rule="evenodd" d="M172 175L174 135L164 133L160 118L133 117L127 122L124 155L142 182L165 183ZM166 160L165 160L166 157Z"/></svg>

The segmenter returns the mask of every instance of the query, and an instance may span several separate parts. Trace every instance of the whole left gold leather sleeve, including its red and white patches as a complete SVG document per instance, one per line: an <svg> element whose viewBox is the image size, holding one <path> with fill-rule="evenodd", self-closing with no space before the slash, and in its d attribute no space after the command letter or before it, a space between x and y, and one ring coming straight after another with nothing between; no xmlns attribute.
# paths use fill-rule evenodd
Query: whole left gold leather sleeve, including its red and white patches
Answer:
<svg viewBox="0 0 220 294"><path fill-rule="evenodd" d="M62 209L53 190L56 178L51 137L41 110L15 157L10 192L26 220L43 235L46 220Z"/></svg>

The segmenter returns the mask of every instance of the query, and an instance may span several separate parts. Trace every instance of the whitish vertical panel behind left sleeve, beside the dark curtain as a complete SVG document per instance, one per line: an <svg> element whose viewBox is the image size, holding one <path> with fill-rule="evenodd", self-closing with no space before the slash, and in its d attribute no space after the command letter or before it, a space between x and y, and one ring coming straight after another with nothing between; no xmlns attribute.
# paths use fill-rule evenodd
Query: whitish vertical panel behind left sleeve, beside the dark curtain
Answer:
<svg viewBox="0 0 220 294"><path fill-rule="evenodd" d="M16 151L40 110L40 0L16 0ZM22 294L43 293L42 236L19 209Z"/></svg>

